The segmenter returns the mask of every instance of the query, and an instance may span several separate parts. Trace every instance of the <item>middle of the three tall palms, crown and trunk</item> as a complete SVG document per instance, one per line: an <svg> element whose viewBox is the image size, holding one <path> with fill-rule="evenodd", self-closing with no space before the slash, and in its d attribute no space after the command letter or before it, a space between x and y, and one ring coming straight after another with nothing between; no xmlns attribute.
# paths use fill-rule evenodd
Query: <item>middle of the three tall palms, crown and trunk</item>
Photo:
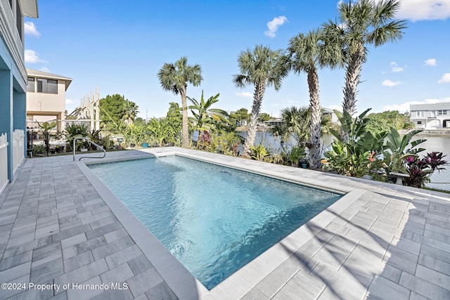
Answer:
<svg viewBox="0 0 450 300"><path fill-rule="evenodd" d="M297 37L290 39L288 58L291 70L296 73L307 73L311 119L309 124L309 164L313 168L319 168L322 112L317 70L320 67L334 68L340 64L342 61L340 59L340 45L332 41L325 41L321 30L311 30L307 34L300 33Z"/></svg>

